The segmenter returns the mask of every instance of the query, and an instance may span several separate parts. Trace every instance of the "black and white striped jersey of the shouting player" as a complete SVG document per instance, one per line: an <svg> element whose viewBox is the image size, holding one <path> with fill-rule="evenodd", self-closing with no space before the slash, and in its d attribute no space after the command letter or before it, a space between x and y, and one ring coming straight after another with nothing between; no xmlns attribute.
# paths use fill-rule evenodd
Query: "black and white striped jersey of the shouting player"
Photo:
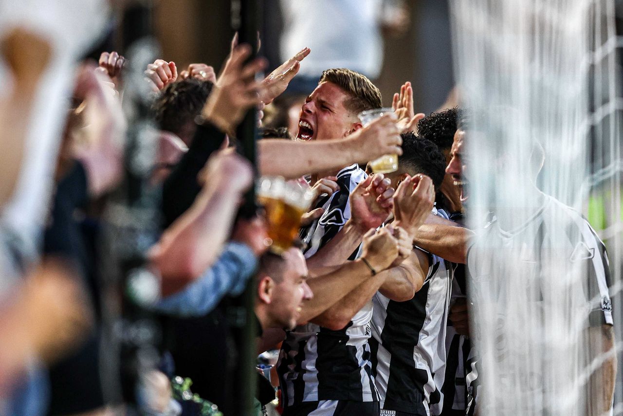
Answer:
<svg viewBox="0 0 623 416"><path fill-rule="evenodd" d="M340 190L316 204L325 213L301 231L308 243L306 258L335 237L350 218L348 196L366 176L357 164L338 173ZM287 332L277 364L284 407L318 400L378 400L368 346L371 318L369 303L340 331L309 323Z"/></svg>

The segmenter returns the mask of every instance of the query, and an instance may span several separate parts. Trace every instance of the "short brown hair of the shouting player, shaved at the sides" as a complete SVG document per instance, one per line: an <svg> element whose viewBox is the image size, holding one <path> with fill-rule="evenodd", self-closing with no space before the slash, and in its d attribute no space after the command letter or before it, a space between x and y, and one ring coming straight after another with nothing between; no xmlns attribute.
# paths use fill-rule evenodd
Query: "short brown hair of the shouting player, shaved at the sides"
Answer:
<svg viewBox="0 0 623 416"><path fill-rule="evenodd" d="M381 108L381 92L367 77L346 68L332 68L323 71L320 82L331 82L348 93L351 98L344 106L354 113Z"/></svg>

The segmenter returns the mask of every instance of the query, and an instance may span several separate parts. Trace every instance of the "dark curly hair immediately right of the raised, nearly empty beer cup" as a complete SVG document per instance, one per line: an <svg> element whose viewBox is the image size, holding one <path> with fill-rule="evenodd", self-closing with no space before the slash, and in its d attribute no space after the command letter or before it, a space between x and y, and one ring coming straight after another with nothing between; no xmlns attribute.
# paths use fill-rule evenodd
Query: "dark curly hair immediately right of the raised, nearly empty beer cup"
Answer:
<svg viewBox="0 0 623 416"><path fill-rule="evenodd" d="M398 164L402 173L411 176L422 173L430 176L435 189L439 189L445 175L445 157L435 143L418 137L415 133L402 133L402 156Z"/></svg>

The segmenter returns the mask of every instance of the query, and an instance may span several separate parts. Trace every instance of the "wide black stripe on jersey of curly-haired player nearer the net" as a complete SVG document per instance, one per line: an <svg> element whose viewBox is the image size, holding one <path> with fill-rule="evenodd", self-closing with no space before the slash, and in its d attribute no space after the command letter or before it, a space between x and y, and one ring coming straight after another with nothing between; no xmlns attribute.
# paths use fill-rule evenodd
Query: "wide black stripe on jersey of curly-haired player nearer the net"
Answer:
<svg viewBox="0 0 623 416"><path fill-rule="evenodd" d="M435 264L439 267L439 263ZM428 381L426 370L416 369L413 347L419 344L420 331L426 319L426 301L430 281L426 281L412 300L390 300L381 342L391 351L387 393L383 409L426 416L424 384ZM412 316L412 319L405 319Z"/></svg>

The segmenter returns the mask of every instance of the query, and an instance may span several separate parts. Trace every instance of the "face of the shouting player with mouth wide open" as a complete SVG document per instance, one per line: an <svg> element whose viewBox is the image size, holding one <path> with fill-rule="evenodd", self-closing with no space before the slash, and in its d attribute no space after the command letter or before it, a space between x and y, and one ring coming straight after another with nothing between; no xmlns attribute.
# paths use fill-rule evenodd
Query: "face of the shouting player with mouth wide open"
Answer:
<svg viewBox="0 0 623 416"><path fill-rule="evenodd" d="M348 98L350 95L334 83L318 84L303 104L297 139L342 138L361 127L357 115L344 106Z"/></svg>

